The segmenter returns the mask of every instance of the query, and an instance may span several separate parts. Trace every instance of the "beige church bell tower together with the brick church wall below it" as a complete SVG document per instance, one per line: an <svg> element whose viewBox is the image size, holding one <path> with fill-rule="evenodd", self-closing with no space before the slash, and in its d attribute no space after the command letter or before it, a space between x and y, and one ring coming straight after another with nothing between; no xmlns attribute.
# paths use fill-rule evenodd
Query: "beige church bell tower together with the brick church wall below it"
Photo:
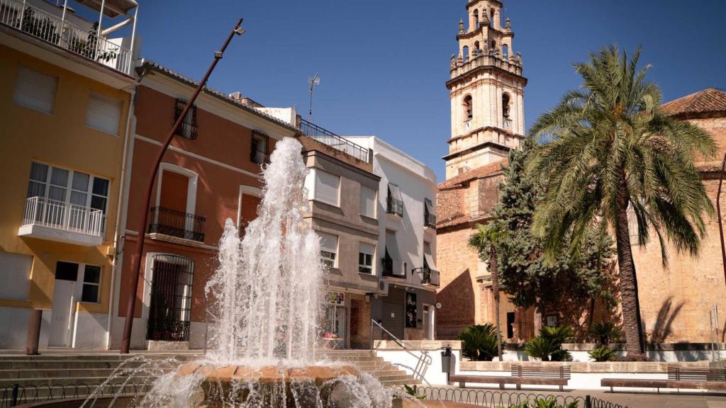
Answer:
<svg viewBox="0 0 726 408"><path fill-rule="evenodd" d="M486 224L497 203L501 166L524 135L521 55L514 52L510 20L502 25L502 2L469 1L468 26L459 23L459 54L452 55L452 134L446 181L439 184L436 255L441 271L437 300L438 338L454 338L469 325L494 322L489 272L466 242L476 224ZM515 310L502 296L502 332L526 336L531 313Z"/></svg>

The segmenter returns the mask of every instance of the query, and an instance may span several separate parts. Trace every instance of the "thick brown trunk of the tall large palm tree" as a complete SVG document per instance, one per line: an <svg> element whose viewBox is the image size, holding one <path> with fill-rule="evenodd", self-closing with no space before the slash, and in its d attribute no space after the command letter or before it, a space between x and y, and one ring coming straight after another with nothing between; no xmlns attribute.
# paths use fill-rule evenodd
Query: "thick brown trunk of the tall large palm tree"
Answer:
<svg viewBox="0 0 726 408"><path fill-rule="evenodd" d="M620 297L623 309L623 329L626 351L629 356L643 354L643 336L640 323L640 302L637 298L635 264L630 248L630 231L627 216L627 189L625 177L621 179L616 220L616 245L618 250L618 269L620 272Z"/></svg>

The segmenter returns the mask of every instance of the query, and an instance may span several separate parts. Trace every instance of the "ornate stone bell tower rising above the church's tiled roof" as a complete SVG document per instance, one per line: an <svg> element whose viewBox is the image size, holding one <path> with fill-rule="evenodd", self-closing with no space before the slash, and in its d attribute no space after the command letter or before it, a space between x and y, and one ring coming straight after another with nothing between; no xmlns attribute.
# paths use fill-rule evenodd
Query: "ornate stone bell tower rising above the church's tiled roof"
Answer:
<svg viewBox="0 0 726 408"><path fill-rule="evenodd" d="M447 180L507 158L524 137L527 79L509 18L502 25L502 7L498 0L468 0L466 27L459 21L459 52L446 82L452 104Z"/></svg>

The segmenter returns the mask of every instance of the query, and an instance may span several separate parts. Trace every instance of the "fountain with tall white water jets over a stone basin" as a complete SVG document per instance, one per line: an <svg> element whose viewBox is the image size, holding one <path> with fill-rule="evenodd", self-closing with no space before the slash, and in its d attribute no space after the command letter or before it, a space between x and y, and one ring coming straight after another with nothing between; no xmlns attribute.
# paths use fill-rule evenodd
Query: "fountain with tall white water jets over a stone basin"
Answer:
<svg viewBox="0 0 726 408"><path fill-rule="evenodd" d="M219 269L205 287L208 353L160 375L143 408L441 406L393 398L356 367L317 358L323 265L309 211L301 144L277 142L263 171L258 218L240 240L227 220ZM113 399L113 406L116 399ZM93 396L84 406L93 407ZM128 404L128 401L127 401ZM100 404L99 404L100 405Z"/></svg>

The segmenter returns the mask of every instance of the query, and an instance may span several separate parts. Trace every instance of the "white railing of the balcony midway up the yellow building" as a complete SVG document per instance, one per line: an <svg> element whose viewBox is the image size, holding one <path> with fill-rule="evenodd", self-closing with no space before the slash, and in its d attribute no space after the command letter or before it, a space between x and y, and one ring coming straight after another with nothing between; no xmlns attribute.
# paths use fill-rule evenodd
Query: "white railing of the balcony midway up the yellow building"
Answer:
<svg viewBox="0 0 726 408"><path fill-rule="evenodd" d="M30 197L25 200L25 216L23 216L23 227L27 226L101 237L103 211L48 200L44 197Z"/></svg>

